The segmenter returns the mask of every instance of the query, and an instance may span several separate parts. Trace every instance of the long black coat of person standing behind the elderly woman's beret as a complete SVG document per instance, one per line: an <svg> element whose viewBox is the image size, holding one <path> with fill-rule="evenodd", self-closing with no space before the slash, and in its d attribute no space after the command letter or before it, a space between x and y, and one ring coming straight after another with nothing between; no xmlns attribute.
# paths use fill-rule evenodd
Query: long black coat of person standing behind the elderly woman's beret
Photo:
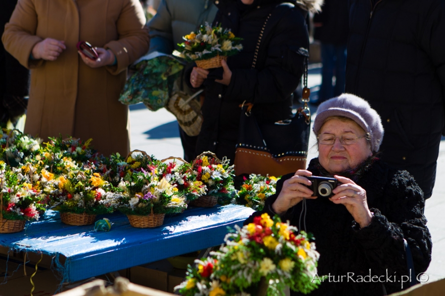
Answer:
<svg viewBox="0 0 445 296"><path fill-rule="evenodd" d="M445 132L445 1L350 0L346 92L382 117L382 158L431 196Z"/></svg>

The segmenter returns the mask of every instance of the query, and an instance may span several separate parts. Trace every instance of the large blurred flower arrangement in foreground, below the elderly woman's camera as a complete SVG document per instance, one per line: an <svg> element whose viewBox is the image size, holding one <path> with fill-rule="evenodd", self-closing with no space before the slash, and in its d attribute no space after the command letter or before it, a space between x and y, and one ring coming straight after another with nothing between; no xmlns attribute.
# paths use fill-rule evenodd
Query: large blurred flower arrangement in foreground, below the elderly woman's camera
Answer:
<svg viewBox="0 0 445 296"><path fill-rule="evenodd" d="M175 287L184 296L284 296L284 289L307 294L318 282L319 254L310 235L267 214L225 236L210 258L196 259L185 281Z"/></svg>

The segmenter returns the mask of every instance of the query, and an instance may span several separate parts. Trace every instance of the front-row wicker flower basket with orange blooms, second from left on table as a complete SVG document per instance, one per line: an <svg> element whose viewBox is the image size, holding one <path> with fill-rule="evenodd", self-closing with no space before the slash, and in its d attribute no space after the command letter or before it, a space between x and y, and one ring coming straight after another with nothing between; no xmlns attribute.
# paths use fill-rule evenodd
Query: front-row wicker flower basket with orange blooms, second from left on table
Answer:
<svg viewBox="0 0 445 296"><path fill-rule="evenodd" d="M92 224L96 215L112 213L117 207L120 195L94 171L93 164L72 168L58 176L42 170L43 201L60 213L63 223Z"/></svg>

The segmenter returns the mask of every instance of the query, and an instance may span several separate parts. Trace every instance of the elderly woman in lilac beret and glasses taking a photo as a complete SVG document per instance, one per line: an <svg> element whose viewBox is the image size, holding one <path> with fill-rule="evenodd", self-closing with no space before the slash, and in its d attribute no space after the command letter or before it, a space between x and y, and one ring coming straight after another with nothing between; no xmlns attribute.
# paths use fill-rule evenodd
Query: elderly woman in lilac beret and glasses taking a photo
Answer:
<svg viewBox="0 0 445 296"><path fill-rule="evenodd" d="M317 275L329 277L312 295L377 296L407 288L401 283L408 274L403 239L415 279L431 260L431 236L421 211L422 190L408 172L377 157L383 138L379 115L366 101L343 94L319 106L313 131L318 158L307 170L283 176L264 208L296 226L301 218L303 230L316 238ZM335 178L338 186L332 196L316 197L309 176Z"/></svg>

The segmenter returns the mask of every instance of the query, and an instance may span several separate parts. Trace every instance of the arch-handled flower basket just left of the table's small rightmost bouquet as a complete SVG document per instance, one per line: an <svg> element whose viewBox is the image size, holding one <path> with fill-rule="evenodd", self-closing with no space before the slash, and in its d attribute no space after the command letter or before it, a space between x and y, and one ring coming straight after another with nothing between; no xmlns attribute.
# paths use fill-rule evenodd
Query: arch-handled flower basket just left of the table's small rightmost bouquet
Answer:
<svg viewBox="0 0 445 296"><path fill-rule="evenodd" d="M209 156L208 156L209 155ZM233 187L233 165L227 158L220 160L212 152L204 152L193 161L192 169L196 180L206 185L206 195L190 202L198 207L213 207L218 200L223 202L231 197Z"/></svg>

